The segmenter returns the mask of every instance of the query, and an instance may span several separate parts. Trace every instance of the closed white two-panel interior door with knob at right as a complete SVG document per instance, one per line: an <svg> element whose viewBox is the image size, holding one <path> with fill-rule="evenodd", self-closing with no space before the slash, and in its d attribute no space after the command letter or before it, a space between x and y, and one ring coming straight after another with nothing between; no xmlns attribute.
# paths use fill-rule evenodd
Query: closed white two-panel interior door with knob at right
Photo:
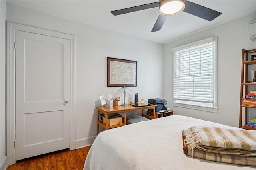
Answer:
<svg viewBox="0 0 256 170"><path fill-rule="evenodd" d="M70 40L16 31L15 160L70 147L69 101Z"/></svg>

